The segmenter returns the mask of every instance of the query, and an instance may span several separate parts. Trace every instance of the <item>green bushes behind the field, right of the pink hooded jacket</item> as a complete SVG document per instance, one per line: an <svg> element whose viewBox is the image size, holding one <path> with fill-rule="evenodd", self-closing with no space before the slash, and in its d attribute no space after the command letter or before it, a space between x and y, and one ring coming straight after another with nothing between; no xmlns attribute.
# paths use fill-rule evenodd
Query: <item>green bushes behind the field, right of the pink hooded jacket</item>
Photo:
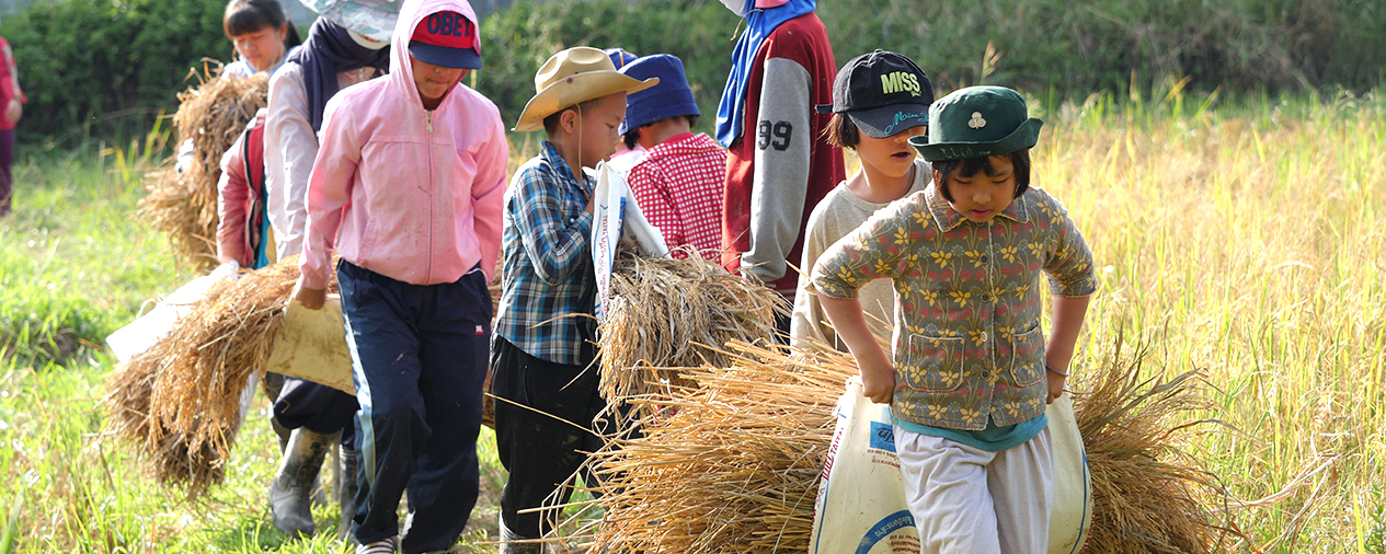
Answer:
<svg viewBox="0 0 1386 554"><path fill-rule="evenodd" d="M1386 80L1379 0L819 0L841 65L875 48L909 55L948 91L981 82L1058 98L1150 90L1365 90ZM715 0L517 1L481 25L477 89L507 123L534 94L534 73L570 46L621 46L683 60L711 129L739 19ZM983 71L987 44L998 62Z"/></svg>

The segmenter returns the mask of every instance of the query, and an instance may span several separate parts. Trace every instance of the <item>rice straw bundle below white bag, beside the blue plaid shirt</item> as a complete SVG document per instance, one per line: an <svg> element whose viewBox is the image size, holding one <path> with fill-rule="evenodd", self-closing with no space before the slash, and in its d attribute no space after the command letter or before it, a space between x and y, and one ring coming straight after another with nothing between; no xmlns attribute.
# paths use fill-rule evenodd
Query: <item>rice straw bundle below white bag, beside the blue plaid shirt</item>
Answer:
<svg viewBox="0 0 1386 554"><path fill-rule="evenodd" d="M732 356L722 345L772 342L775 316L789 313L780 295L686 252L686 259L617 253L599 332L602 396L667 396L693 384L682 368L729 366ZM638 404L636 416L642 414L649 410Z"/></svg>

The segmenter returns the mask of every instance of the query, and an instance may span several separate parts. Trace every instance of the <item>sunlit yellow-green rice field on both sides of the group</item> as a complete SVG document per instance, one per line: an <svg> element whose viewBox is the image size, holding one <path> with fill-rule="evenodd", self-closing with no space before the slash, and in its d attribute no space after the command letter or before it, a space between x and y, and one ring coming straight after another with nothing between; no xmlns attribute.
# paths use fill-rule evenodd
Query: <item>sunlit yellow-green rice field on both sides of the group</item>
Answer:
<svg viewBox="0 0 1386 554"><path fill-rule="evenodd" d="M1200 371L1209 409L1171 442L1227 490L1206 501L1228 522L1220 550L1386 553L1386 101L1195 98L1175 83L1034 109L1034 183L1070 209L1103 281L1077 377L1117 346L1143 349L1150 377ZM334 507L312 540L270 524L263 399L197 504L109 432L101 338L195 276L134 217L139 150L21 150L15 163L15 213L0 219L0 554L349 551ZM481 450L482 500L455 551L495 550L505 476L492 435Z"/></svg>

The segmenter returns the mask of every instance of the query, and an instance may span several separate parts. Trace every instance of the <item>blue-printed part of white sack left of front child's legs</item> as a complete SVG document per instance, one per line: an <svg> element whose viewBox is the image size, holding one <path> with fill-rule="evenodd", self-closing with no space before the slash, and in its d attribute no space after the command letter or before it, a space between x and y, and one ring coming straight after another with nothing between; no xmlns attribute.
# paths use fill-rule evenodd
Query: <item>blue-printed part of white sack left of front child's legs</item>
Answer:
<svg viewBox="0 0 1386 554"><path fill-rule="evenodd" d="M834 413L808 551L918 554L919 530L900 481L890 406L872 403L852 377Z"/></svg>

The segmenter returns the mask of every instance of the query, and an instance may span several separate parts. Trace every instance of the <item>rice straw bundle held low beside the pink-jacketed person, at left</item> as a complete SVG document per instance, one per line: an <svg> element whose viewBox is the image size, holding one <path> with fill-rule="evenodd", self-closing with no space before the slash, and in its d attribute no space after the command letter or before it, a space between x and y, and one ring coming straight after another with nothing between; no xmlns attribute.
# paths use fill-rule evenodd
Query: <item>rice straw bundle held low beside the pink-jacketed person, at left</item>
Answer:
<svg viewBox="0 0 1386 554"><path fill-rule="evenodd" d="M241 395L251 375L263 375L298 274L292 256L212 285L168 337L111 378L114 431L190 500L225 476ZM335 278L328 288L335 292Z"/></svg>

